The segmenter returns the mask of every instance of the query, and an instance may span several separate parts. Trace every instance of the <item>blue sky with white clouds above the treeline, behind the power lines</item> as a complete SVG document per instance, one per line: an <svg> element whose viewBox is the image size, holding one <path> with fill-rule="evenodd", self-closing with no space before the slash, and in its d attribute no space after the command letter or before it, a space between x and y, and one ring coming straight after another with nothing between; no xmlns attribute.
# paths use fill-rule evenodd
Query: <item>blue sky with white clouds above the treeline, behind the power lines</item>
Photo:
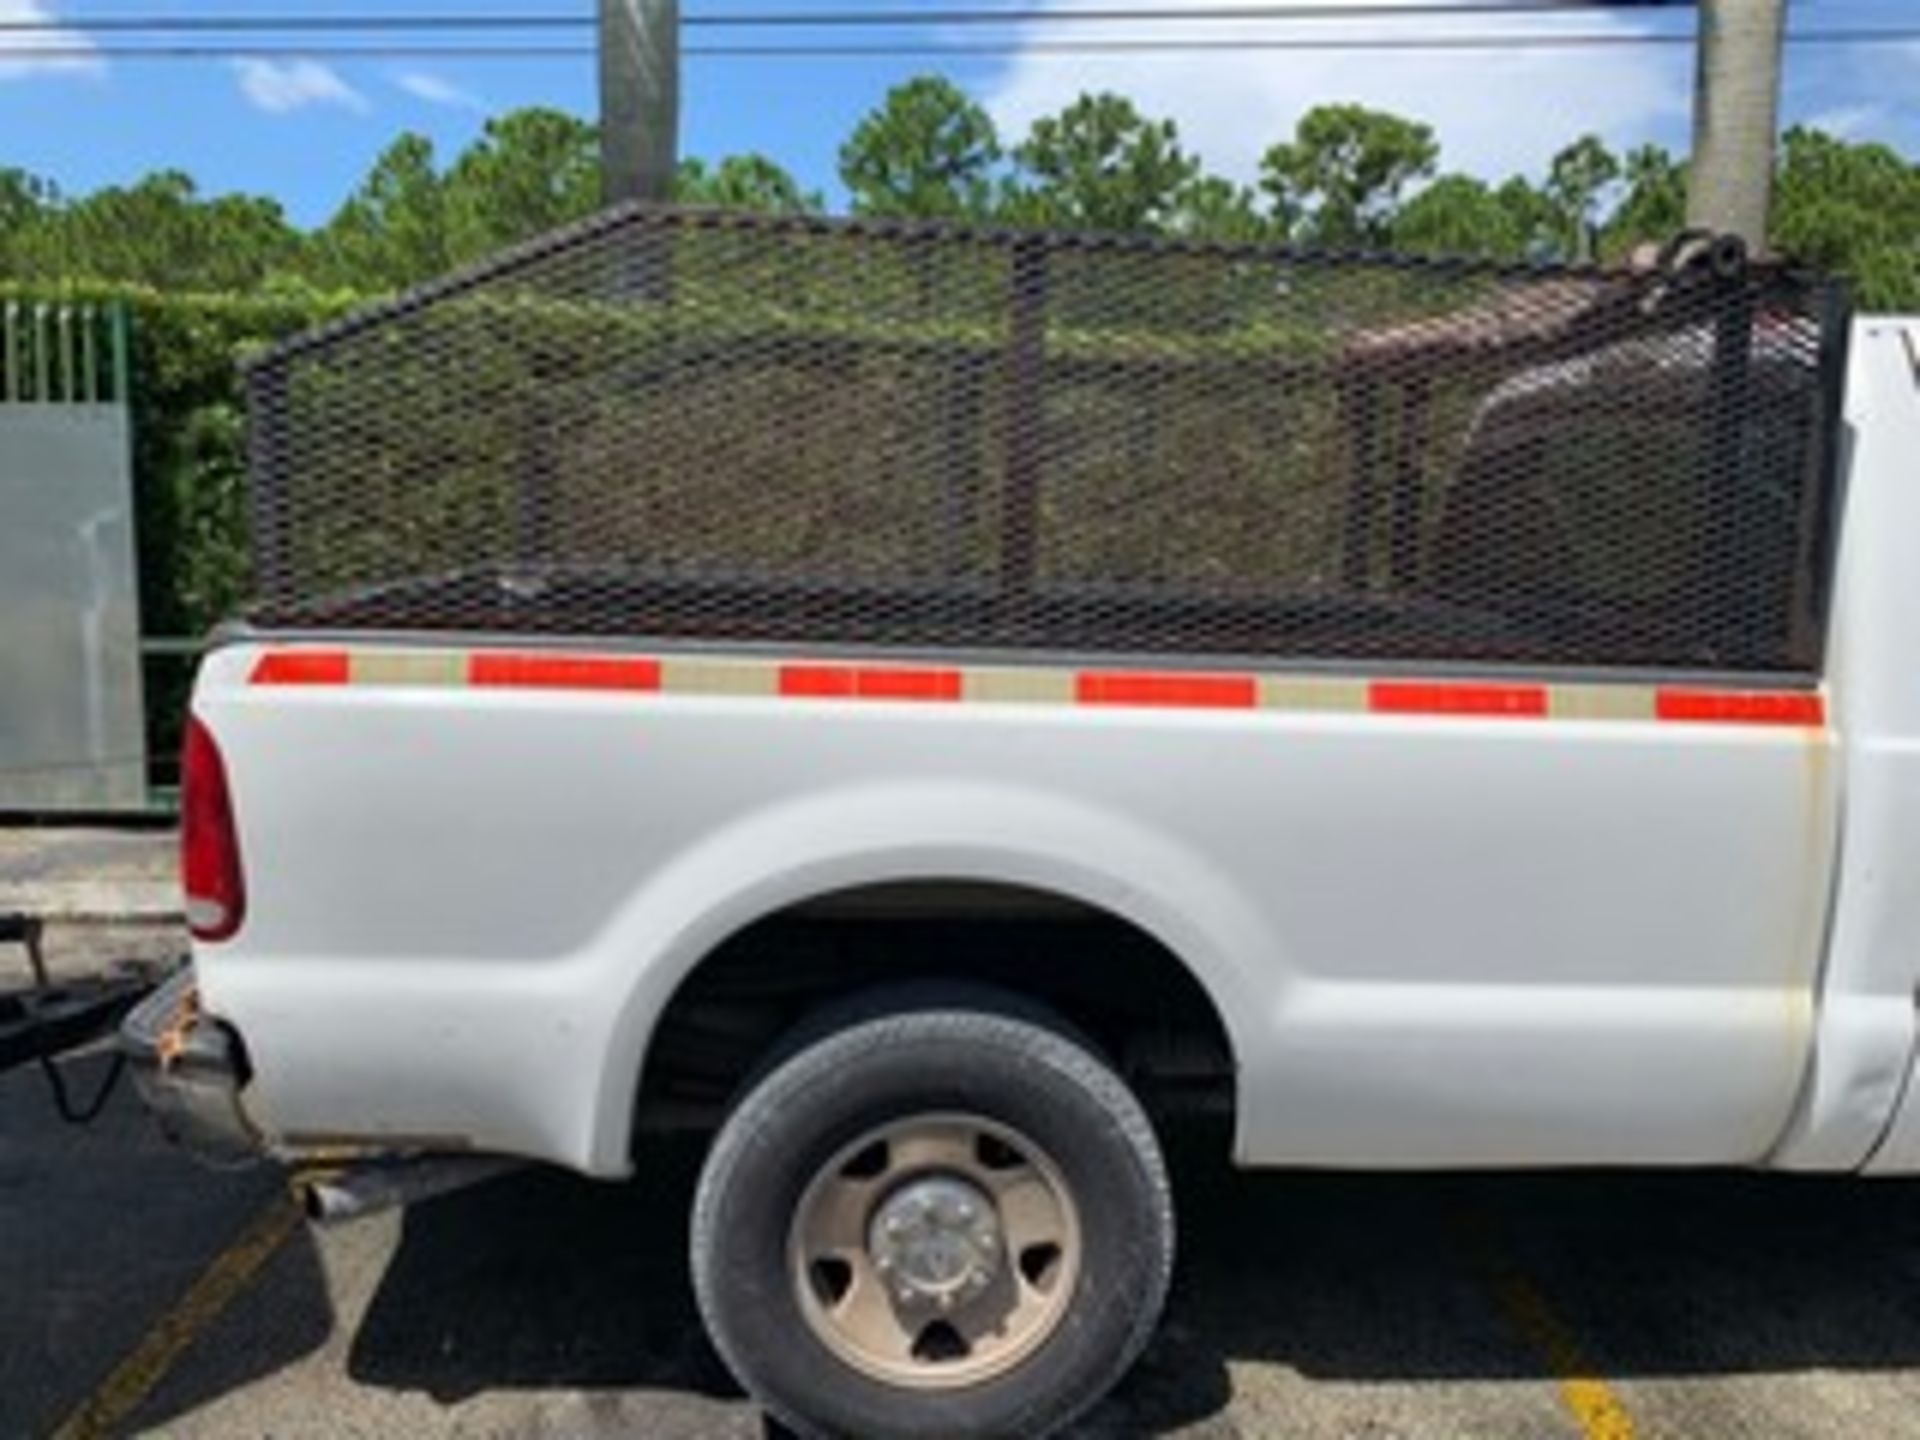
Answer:
<svg viewBox="0 0 1920 1440"><path fill-rule="evenodd" d="M1079 0L1058 0L1071 8ZM484 10L501 0L0 0L0 19L75 19L138 13L369 13ZM685 12L739 10L747 0L685 0ZM589 0L522 0L518 12L589 12ZM895 0L904 8L904 0ZM753 0L755 10L824 8L818 0ZM1916 0L1795 0L1801 29L1920 25ZM1236 23L1242 25L1242 23ZM1248 35L1277 35L1244 23ZM1315 35L1488 33L1561 27L1578 33L1690 29L1688 15L1645 12L1542 19L1373 19ZM1302 33L1302 25L1294 33ZM1139 33L1139 27L1127 27ZM1175 29L1156 31L1175 35ZM1238 31L1192 27L1233 36ZM708 36L712 33L707 33ZM1060 38L1064 31L1029 31ZM1098 38L1081 25L1077 38ZM570 38L570 36L547 36ZM582 36L584 38L584 36ZM705 36L703 36L705 38ZM785 38L793 38L787 35ZM937 40L925 27L891 38ZM968 38L979 38L970 33ZM69 38L69 44L73 40ZM15 46L8 50L8 46ZM205 190L265 192L300 223L323 221L405 129L430 134L449 157L490 111L547 104L593 113L589 60L296 60L54 61L0 35L0 165L46 175L69 192L179 167ZM1073 94L1114 88L1152 113L1171 115L1213 167L1248 179L1260 150L1298 113L1329 100L1359 100L1432 123L1452 167L1501 177L1538 171L1567 138L1597 131L1617 144L1684 144L1688 48L1530 50L1455 54L1188 56L1016 54L972 60L689 60L682 148L693 156L758 150L808 186L837 194L833 156L854 121L885 90L939 71L979 98L1008 134ZM1920 42L1876 48L1795 48L1786 84L1788 121L1820 121L1855 138L1889 140L1920 156Z"/></svg>

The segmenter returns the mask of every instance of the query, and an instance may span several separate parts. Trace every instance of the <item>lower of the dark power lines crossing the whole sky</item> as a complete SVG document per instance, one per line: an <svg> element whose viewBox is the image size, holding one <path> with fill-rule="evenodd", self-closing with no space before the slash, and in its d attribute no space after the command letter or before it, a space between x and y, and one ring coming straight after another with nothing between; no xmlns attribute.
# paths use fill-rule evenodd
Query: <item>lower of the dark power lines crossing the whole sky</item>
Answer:
<svg viewBox="0 0 1920 1440"><path fill-rule="evenodd" d="M1887 46L1920 42L1920 27L1801 31L1789 46ZM1102 56L1102 54L1204 54L1238 52L1498 52L1498 50L1617 50L1632 46L1692 46L1692 35L1446 35L1354 38L1235 38L1235 40L987 40L927 44L691 44L682 56L695 60L941 60L975 56ZM578 60L597 54L589 44L142 44L142 46L8 46L0 60Z"/></svg>

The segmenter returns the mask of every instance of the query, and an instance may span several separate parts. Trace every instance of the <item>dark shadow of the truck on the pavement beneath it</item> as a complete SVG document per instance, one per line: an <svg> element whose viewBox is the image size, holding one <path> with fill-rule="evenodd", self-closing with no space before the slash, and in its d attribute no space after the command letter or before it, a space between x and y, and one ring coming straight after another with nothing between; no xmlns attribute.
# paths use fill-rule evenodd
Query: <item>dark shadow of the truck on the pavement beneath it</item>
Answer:
<svg viewBox="0 0 1920 1440"><path fill-rule="evenodd" d="M353 1338L357 1382L737 1394L684 1248L697 1150L632 1187L524 1173L415 1208ZM1089 1434L1225 1411L1229 1363L1308 1380L1540 1380L1536 1296L1609 1379L1920 1365L1907 1183L1738 1173L1242 1175L1175 1156L1167 1321ZM1526 1306L1521 1300L1519 1306Z"/></svg>

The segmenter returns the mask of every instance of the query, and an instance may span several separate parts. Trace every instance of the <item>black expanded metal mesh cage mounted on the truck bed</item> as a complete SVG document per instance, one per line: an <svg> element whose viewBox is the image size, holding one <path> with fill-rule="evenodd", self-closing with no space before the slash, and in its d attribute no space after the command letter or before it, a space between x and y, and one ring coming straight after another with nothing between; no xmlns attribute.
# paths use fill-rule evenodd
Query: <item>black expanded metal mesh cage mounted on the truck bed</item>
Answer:
<svg viewBox="0 0 1920 1440"><path fill-rule="evenodd" d="M250 369L263 628L1820 666L1847 311L628 207Z"/></svg>

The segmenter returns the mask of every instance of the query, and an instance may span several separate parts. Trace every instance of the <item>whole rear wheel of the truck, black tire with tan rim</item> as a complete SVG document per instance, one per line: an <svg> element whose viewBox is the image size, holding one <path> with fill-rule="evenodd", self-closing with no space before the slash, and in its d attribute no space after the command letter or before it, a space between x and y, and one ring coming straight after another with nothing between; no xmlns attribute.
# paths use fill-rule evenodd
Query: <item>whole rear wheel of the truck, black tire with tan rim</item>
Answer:
<svg viewBox="0 0 1920 1440"><path fill-rule="evenodd" d="M693 1284L739 1382L804 1436L1058 1430L1152 1334L1173 1202L1125 1083L991 991L804 1027L720 1129Z"/></svg>

